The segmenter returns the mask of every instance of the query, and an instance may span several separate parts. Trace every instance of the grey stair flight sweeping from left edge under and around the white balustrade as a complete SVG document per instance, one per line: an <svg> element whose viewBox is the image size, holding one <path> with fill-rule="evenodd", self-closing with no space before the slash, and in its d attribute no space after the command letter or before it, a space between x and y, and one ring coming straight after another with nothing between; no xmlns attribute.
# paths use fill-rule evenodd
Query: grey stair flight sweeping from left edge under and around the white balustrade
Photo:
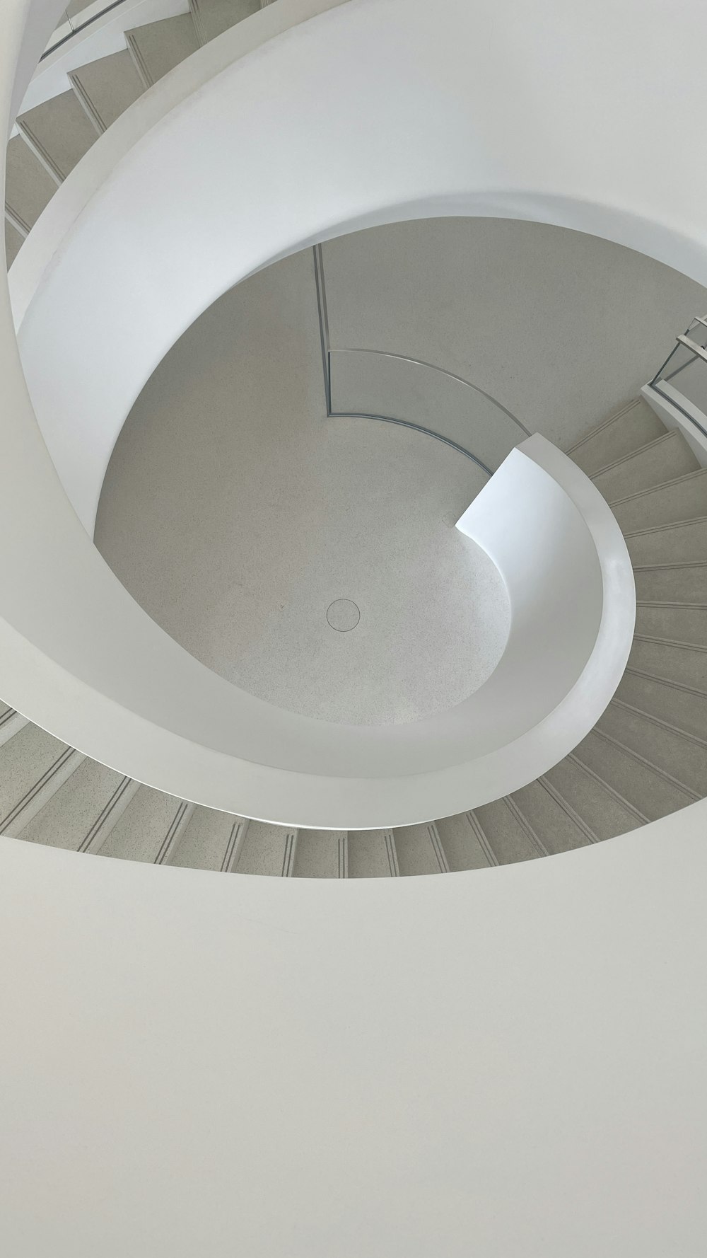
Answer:
<svg viewBox="0 0 707 1258"><path fill-rule="evenodd" d="M554 855L707 795L707 469L643 400L569 452L625 536L635 635L589 736L504 799L426 825L296 830L131 781L0 711L0 833L98 855L224 873L370 878Z"/></svg>

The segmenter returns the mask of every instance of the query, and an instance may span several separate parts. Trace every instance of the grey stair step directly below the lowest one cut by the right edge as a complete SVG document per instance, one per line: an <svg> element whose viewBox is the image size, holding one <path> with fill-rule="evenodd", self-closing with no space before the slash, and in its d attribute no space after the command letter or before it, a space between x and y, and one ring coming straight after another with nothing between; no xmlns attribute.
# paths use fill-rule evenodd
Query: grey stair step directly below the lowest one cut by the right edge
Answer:
<svg viewBox="0 0 707 1258"><path fill-rule="evenodd" d="M598 731L582 738L572 755L649 821L677 813L694 801L689 791L662 777L616 742L600 737Z"/></svg>

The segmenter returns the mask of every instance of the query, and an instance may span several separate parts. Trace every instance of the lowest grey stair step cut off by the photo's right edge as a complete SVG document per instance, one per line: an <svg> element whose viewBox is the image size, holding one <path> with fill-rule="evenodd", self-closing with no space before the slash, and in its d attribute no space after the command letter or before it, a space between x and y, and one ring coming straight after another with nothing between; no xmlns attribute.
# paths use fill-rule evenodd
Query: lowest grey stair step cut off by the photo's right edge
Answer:
<svg viewBox="0 0 707 1258"><path fill-rule="evenodd" d="M649 764L664 770L688 791L707 795L707 749L699 743L614 701L603 712L596 728L611 735L632 751L637 751ZM640 808L640 804L638 806Z"/></svg>

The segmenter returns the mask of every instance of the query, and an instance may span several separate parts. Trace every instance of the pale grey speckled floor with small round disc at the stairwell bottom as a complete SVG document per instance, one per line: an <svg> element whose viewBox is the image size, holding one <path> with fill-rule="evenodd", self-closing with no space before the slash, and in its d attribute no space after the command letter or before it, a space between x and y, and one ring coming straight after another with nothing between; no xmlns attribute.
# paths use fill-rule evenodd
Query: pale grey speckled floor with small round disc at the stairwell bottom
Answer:
<svg viewBox="0 0 707 1258"><path fill-rule="evenodd" d="M413 721L477 689L508 635L497 570L452 527L486 477L420 434L327 419L318 337L311 250L211 307L126 423L96 542L226 679L322 720ZM346 605L327 620L338 600L355 628Z"/></svg>

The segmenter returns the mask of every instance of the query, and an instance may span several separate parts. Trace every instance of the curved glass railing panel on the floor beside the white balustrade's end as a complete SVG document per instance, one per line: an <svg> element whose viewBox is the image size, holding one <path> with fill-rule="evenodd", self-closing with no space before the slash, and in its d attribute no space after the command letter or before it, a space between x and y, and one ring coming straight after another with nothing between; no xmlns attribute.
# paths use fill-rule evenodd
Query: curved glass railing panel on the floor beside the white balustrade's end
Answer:
<svg viewBox="0 0 707 1258"><path fill-rule="evenodd" d="M496 472L528 434L499 403L431 364L377 350L332 350L331 410L421 428Z"/></svg>

